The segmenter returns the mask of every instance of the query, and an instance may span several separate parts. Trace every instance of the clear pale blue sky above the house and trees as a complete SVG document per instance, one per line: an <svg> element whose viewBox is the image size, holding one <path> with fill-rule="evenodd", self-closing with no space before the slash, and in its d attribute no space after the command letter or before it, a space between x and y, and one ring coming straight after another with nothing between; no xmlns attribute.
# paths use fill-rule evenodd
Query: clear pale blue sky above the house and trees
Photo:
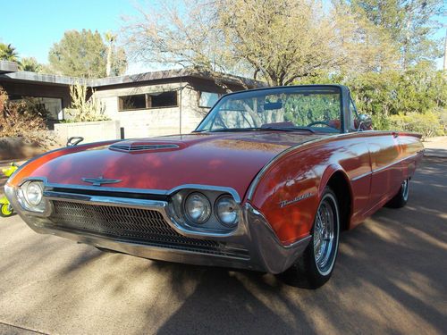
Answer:
<svg viewBox="0 0 447 335"><path fill-rule="evenodd" d="M150 0L148 1L150 2ZM48 63L48 51L69 29L118 31L123 16L137 14L138 0L0 0L0 42L11 43L21 57ZM443 17L444 26L447 26ZM437 38L443 38L444 29ZM442 67L443 60L438 60ZM130 62L127 73L150 71L142 63Z"/></svg>

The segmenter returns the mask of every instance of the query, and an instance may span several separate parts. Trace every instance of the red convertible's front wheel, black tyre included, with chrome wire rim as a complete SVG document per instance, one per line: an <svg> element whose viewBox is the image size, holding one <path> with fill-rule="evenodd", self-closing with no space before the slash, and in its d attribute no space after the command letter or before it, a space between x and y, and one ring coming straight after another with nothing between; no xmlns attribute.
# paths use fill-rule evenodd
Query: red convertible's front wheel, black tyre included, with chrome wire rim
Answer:
<svg viewBox="0 0 447 335"><path fill-rule="evenodd" d="M284 274L288 281L301 287L317 289L331 278L338 254L340 215L331 188L325 188L311 233L312 239L303 255Z"/></svg>

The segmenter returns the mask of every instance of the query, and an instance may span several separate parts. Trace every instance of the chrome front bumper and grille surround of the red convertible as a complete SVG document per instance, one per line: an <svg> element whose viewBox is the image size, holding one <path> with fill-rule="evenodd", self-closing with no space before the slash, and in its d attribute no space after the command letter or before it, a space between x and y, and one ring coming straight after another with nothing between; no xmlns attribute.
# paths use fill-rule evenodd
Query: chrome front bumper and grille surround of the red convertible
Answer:
<svg viewBox="0 0 447 335"><path fill-rule="evenodd" d="M137 255L140 257L164 260L169 262L215 265L240 269L249 269L263 272L279 273L287 270L291 264L308 246L310 236L300 239L288 246L283 246L277 239L274 230L266 222L266 218L249 203L242 208L242 218L236 230L227 234L213 234L205 231L192 231L185 229L174 222L168 210L168 202L160 200L145 200L127 197L89 196L46 191L45 197L49 200L49 208L45 214L29 214L21 208L17 201L15 189L5 186L6 197L10 200L14 210L21 216L32 230L42 234L52 234L72 239L96 247L115 250L118 252ZM153 210L163 215L173 230L181 236L192 239L207 239L223 242L235 248L247 251L245 255L214 255L200 251L190 251L181 248L160 247L145 245L144 241L131 241L125 237L116 239L99 236L86 231L63 230L55 227L48 219L53 210L52 201L63 200L72 203L89 205L106 205L125 208L141 208Z"/></svg>

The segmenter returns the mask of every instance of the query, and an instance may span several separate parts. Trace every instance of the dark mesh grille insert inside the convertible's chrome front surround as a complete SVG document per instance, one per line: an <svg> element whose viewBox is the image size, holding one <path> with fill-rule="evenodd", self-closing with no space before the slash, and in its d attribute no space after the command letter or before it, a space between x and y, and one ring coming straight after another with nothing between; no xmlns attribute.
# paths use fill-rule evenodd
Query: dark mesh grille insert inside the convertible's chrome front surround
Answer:
<svg viewBox="0 0 447 335"><path fill-rule="evenodd" d="M228 247L224 243L182 236L164 220L161 213L140 208L111 205L89 205L54 200L54 211L49 217L55 228L89 232L112 239L131 241L153 247L213 255L248 257L242 248Z"/></svg>

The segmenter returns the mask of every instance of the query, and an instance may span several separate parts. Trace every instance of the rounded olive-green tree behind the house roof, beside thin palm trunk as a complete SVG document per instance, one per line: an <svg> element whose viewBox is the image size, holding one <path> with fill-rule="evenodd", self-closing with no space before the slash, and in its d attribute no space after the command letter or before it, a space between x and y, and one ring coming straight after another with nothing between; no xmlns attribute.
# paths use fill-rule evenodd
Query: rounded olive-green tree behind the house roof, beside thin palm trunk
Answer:
<svg viewBox="0 0 447 335"><path fill-rule="evenodd" d="M112 74L125 71L125 53L118 49L112 52L112 62L124 66L115 67ZM119 58L119 59L117 59ZM95 31L69 30L63 34L59 43L50 49L48 60L50 68L58 74L80 78L101 78L106 75L107 46L101 35Z"/></svg>

